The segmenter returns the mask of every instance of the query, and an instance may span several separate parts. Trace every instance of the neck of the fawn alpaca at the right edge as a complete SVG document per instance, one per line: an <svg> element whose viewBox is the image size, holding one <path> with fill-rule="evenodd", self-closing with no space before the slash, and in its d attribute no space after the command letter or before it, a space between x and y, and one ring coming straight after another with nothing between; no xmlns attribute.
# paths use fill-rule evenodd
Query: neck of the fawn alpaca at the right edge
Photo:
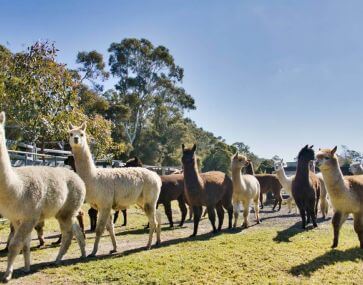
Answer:
<svg viewBox="0 0 363 285"><path fill-rule="evenodd" d="M321 173L330 197L334 198L345 193L344 177L337 161L329 169L321 169Z"/></svg>

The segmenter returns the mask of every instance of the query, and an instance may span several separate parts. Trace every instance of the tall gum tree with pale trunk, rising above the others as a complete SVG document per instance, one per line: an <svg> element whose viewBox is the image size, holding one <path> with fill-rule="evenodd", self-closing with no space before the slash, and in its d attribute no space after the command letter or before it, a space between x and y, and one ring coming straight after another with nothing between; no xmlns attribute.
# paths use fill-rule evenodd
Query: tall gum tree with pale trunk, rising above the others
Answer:
<svg viewBox="0 0 363 285"><path fill-rule="evenodd" d="M108 51L111 73L119 78L117 102L130 109L122 124L137 153L141 130L156 106L182 112L195 109L194 99L179 85L184 71L174 63L167 48L154 47L146 39L129 38L112 43Z"/></svg>

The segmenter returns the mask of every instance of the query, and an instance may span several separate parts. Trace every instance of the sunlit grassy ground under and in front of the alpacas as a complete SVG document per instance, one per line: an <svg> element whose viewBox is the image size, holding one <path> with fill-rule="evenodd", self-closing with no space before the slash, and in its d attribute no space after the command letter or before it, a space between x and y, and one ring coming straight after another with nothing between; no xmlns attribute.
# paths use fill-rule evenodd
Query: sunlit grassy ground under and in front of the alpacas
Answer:
<svg viewBox="0 0 363 285"><path fill-rule="evenodd" d="M49 246L56 238L55 221L47 223L48 247L32 250L32 271L21 272L22 255L16 260L14 284L363 284L363 250L351 221L342 229L338 249L331 250L330 220L317 229L300 230L297 215L286 209L262 213L263 222L247 230L225 230L210 234L208 219L201 222L199 235L188 238L192 223L183 228L162 231L162 245L145 251L147 234L143 229L146 218L140 210L129 210L126 228L117 227L119 252L109 255L109 236L101 240L98 258L79 260L76 242L59 267L52 265L58 247ZM161 209L163 211L163 209ZM174 219L179 220L175 211ZM88 219L87 219L88 221ZM226 223L226 221L225 221ZM1 241L6 240L8 228L2 226ZM35 232L34 232L35 237ZM87 234L87 252L94 234ZM37 241L32 245L35 247ZM1 273L6 255L1 255Z"/></svg>

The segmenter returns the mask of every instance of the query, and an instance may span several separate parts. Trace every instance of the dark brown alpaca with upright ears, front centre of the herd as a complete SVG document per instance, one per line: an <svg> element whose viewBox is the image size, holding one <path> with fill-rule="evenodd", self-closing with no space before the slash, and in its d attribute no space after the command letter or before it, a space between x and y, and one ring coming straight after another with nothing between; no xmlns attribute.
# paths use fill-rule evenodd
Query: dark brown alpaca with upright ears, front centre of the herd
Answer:
<svg viewBox="0 0 363 285"><path fill-rule="evenodd" d="M197 146L189 149L182 145L182 163L184 169L184 193L188 205L193 207L194 230L191 237L196 236L198 225L202 215L202 206L207 206L209 220L213 227L213 233L217 232L215 226L215 211L218 215L218 231L222 229L224 210L228 211L228 228L232 227L232 194L233 184L231 178L220 171L209 171L199 174L197 166Z"/></svg>

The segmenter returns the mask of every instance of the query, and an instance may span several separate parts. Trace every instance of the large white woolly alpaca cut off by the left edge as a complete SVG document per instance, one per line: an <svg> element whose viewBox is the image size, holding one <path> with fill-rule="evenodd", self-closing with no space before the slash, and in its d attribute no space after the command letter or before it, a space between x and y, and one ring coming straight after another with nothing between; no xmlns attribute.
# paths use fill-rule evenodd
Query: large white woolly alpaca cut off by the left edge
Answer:
<svg viewBox="0 0 363 285"><path fill-rule="evenodd" d="M30 270L31 231L38 222L55 217L62 232L56 263L68 250L73 232L82 257L86 255L83 234L75 217L83 204L86 188L82 179L66 168L12 168L5 139L5 113L0 113L0 213L13 224L8 264L3 280L9 281L15 257L23 251L25 271Z"/></svg>

